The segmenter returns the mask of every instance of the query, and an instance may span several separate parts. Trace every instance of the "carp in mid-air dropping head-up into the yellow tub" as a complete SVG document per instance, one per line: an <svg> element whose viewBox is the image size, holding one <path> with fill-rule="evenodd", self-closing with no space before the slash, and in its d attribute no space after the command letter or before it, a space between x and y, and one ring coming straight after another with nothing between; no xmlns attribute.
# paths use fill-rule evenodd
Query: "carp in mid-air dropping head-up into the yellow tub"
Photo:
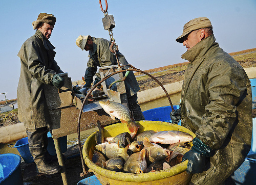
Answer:
<svg viewBox="0 0 256 185"><path fill-rule="evenodd" d="M136 124L133 117L131 118L131 113L128 108L126 108L121 103L117 103L115 101L110 100L99 101L99 104L103 108L103 110L110 115L110 117L113 120L115 118L118 118L121 121L121 123L126 123L128 129L132 133L132 138L134 138L140 126Z"/></svg>

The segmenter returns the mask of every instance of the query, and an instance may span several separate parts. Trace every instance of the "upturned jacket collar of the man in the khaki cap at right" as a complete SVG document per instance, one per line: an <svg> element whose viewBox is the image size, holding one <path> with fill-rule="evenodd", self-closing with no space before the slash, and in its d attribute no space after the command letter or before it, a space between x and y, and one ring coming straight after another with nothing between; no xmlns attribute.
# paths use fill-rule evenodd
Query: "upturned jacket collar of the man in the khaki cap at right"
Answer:
<svg viewBox="0 0 256 185"><path fill-rule="evenodd" d="M205 39L203 39L200 42L198 42L194 47L192 47L191 49L186 51L181 56L181 58L185 59L185 60L187 60L189 62L193 62L196 59L200 59L200 58L204 57L204 55L206 54L206 52L209 50L209 48L212 45L218 44L217 42L215 42L215 40L216 39L214 37L214 34L206 37Z"/></svg>

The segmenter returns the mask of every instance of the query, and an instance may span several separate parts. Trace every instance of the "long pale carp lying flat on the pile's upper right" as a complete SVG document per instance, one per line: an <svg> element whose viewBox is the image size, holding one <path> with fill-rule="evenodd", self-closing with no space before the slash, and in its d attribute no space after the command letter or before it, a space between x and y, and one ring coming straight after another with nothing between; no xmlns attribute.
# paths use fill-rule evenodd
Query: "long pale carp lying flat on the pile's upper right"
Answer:
<svg viewBox="0 0 256 185"><path fill-rule="evenodd" d="M152 143L161 143L161 144L174 144L174 143L185 143L193 140L193 137L183 131L178 130L168 130L168 131L159 131L158 133L153 134L150 138Z"/></svg>

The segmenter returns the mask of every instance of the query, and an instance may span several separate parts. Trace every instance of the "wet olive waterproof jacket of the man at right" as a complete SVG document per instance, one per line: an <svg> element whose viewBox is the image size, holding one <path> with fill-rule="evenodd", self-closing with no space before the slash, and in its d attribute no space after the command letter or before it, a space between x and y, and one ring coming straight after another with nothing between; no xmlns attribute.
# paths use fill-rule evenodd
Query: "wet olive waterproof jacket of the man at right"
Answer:
<svg viewBox="0 0 256 185"><path fill-rule="evenodd" d="M244 161L252 134L250 80L243 67L224 52L214 35L182 55L184 74L181 125L211 149L209 170L194 174L195 184L221 184Z"/></svg>

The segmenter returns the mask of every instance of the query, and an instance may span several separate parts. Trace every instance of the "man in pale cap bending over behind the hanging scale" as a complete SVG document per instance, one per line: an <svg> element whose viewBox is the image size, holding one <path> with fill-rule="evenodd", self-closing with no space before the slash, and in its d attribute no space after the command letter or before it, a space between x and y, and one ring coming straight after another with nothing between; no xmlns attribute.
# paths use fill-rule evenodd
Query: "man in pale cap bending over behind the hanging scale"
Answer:
<svg viewBox="0 0 256 185"><path fill-rule="evenodd" d="M89 50L89 61L87 62L86 74L84 75L84 81L86 81L84 87L91 87L93 76L95 74L96 78L94 85L101 80L100 74L96 73L97 66L104 67L117 64L116 56L110 51L111 42L106 39L95 38L91 37L90 35L80 35L76 39L76 45L82 50ZM117 54L119 57L120 65L127 65L128 62L124 56L119 51ZM127 69L128 67L124 66L124 68ZM130 71L129 75L126 77L124 84L128 98L129 109L133 113L134 119L136 121L144 120L145 118L141 112L140 106L138 105L138 97L136 94L140 87L132 71Z"/></svg>

